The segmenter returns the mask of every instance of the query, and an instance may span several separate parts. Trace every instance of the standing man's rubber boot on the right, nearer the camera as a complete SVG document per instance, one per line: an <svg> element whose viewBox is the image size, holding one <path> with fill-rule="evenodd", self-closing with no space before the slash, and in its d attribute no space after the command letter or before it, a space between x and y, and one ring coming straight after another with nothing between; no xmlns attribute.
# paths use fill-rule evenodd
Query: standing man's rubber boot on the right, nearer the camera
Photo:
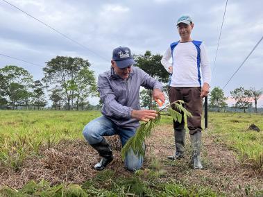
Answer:
<svg viewBox="0 0 263 197"><path fill-rule="evenodd" d="M202 132L196 132L194 135L190 135L191 137L191 145L192 145L192 164L194 169L203 169L203 165L201 163L201 138Z"/></svg>

